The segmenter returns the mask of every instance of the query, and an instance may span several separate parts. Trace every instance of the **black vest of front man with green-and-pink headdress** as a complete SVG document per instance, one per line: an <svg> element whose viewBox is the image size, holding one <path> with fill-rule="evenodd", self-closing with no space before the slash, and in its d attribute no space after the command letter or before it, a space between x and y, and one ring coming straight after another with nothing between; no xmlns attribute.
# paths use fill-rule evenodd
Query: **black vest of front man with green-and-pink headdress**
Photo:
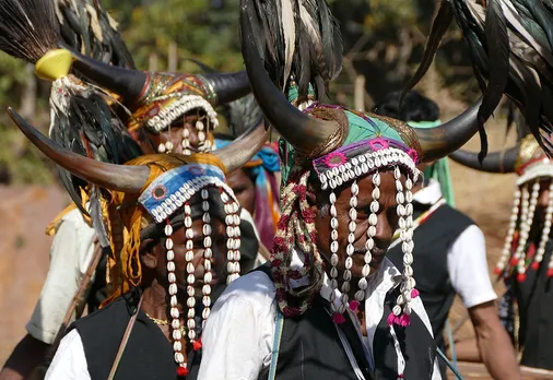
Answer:
<svg viewBox="0 0 553 380"><path fill-rule="evenodd" d="M267 265L258 270L271 277ZM369 369L363 343L350 318L346 316L345 323L338 325L346 336L357 366L366 380L397 380L398 378L398 358L386 322L391 312L391 302L397 298L396 292L391 290L387 297L385 313L375 334L373 356L376 368L374 371ZM329 308L328 301L317 296L311 308L303 316L284 320L276 364L276 380L357 379L338 335L337 324L330 317ZM412 313L410 326L396 326L395 330L407 361L405 378L431 379L436 351L432 336L421 319ZM258 379L268 379L268 375L269 368L264 368Z"/></svg>

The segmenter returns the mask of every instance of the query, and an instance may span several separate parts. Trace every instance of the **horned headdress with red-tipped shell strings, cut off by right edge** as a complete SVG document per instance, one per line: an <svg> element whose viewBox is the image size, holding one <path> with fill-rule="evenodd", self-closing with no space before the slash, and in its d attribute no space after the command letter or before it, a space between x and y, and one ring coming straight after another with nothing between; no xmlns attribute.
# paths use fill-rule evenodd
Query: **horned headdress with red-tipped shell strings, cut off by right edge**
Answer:
<svg viewBox="0 0 553 380"><path fill-rule="evenodd" d="M469 152L459 151L451 155L456 162L476 170L487 173L516 173L517 190L509 219L509 229L505 238L502 257L495 266L498 275L511 275L516 272L517 281L526 280L529 269L538 270L545 254L550 239L553 217L553 181L549 185L550 198L544 215L544 225L537 249L527 250L530 230L534 224L543 179L553 179L553 162L540 147L533 136L527 135L515 147L490 154L482 166L478 157ZM534 226L536 227L536 226ZM553 277L553 260L548 263L548 276Z"/></svg>

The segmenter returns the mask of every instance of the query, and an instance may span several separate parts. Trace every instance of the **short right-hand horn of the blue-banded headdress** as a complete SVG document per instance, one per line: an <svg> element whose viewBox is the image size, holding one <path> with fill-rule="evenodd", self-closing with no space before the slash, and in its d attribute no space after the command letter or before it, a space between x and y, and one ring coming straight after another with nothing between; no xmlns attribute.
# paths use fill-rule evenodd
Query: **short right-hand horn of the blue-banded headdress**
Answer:
<svg viewBox="0 0 553 380"><path fill-rule="evenodd" d="M264 121L261 117L259 122L250 127L232 143L211 153L225 164L227 173L233 173L246 165L256 155L269 135L270 130L264 128Z"/></svg>

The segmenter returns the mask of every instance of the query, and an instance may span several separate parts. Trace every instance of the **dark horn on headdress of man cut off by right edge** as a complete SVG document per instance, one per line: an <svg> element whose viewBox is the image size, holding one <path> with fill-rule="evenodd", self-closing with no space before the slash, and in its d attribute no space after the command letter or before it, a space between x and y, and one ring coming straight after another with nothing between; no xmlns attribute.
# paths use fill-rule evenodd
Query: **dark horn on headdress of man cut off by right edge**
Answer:
<svg viewBox="0 0 553 380"><path fill-rule="evenodd" d="M482 165L478 159L478 154L467 151L456 151L449 155L452 161L463 166L486 173L514 173L517 164L519 146L514 146L507 151L490 153Z"/></svg>

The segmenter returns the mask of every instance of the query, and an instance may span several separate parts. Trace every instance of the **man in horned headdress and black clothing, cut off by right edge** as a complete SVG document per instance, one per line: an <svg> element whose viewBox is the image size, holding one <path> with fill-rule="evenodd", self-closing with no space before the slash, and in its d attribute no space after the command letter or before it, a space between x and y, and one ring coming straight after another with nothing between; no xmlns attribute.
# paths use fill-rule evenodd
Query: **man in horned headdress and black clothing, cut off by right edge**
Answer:
<svg viewBox="0 0 553 380"><path fill-rule="evenodd" d="M520 364L553 369L553 320L550 283L553 276L551 221L553 165L532 135L506 152L491 154L483 165L468 152L460 164L491 173L518 175L515 200L502 257L495 273L505 280L506 328L521 353Z"/></svg>

